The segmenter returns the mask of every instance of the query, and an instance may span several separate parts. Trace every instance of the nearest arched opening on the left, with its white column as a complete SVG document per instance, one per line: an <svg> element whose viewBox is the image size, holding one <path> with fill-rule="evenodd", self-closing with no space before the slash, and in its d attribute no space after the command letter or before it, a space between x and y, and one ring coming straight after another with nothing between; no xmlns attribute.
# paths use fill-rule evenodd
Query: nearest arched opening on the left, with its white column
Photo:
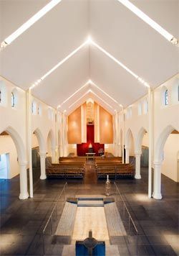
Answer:
<svg viewBox="0 0 179 256"><path fill-rule="evenodd" d="M19 175L19 198L28 198L26 151L21 137L12 127L7 127L0 134L0 145L0 168L4 168L4 177L1 178L11 179Z"/></svg>

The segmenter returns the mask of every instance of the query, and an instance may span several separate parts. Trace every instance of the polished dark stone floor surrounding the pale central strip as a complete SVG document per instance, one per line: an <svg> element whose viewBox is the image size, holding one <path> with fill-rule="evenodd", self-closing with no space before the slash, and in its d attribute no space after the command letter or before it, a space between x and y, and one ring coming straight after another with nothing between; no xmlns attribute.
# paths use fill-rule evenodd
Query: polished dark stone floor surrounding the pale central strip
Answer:
<svg viewBox="0 0 179 256"><path fill-rule="evenodd" d="M38 174L36 177L34 198L24 201L19 200L19 176L11 180L0 180L0 255L42 255L40 234L66 180L39 180ZM105 193L105 181L97 181L90 167L84 181L67 181L67 196ZM141 180L117 180L117 186L139 231L138 255L179 255L178 183L163 175L163 199L160 201L147 198L145 168L142 169ZM122 211L120 203L118 206ZM47 239L46 255L61 255L63 245L52 244L50 236ZM135 236L113 237L112 244L118 244L122 256L136 255Z"/></svg>

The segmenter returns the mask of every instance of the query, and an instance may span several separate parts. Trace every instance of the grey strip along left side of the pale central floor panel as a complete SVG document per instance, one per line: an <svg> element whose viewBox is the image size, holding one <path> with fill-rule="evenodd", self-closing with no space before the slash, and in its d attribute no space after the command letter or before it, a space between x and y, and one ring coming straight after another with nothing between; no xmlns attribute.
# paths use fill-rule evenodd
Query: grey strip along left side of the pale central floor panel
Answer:
<svg viewBox="0 0 179 256"><path fill-rule="evenodd" d="M76 213L77 204L66 202L55 235L72 237Z"/></svg>

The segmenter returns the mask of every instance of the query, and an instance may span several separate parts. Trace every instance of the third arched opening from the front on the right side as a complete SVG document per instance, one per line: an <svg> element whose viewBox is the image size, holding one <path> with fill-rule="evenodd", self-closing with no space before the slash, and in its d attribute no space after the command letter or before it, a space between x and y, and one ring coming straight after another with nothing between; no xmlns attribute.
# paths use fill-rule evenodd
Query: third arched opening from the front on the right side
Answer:
<svg viewBox="0 0 179 256"><path fill-rule="evenodd" d="M131 163L134 160L134 155L134 137L132 135L131 129L128 129L125 136L125 163Z"/></svg>

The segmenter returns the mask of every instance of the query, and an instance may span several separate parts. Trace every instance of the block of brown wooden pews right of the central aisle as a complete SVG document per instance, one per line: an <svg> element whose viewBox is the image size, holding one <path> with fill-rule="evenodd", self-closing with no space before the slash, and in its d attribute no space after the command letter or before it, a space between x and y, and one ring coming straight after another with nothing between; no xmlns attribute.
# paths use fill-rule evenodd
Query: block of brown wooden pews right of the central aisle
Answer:
<svg viewBox="0 0 179 256"><path fill-rule="evenodd" d="M95 169L97 178L110 178L130 177L134 178L135 168L133 163L122 163L122 157L106 157L96 158Z"/></svg>

